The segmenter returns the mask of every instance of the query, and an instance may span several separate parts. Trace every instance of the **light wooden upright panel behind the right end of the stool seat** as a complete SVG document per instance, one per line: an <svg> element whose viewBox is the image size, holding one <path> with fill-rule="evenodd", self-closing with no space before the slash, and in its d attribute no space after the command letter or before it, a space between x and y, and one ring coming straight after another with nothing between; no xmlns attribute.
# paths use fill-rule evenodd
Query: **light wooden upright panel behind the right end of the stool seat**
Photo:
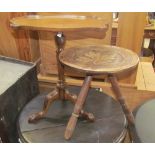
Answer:
<svg viewBox="0 0 155 155"><path fill-rule="evenodd" d="M146 13L142 12L119 13L117 46L131 49L138 55L140 54L146 24L146 15ZM137 69L125 76L120 76L120 82L134 84L136 81L136 74Z"/></svg>

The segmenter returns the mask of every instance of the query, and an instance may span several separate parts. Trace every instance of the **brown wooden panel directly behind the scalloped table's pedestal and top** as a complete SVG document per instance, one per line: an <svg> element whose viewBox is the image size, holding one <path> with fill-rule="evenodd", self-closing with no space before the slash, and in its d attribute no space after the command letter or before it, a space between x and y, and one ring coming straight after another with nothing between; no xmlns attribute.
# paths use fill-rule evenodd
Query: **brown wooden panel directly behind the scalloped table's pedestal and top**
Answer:
<svg viewBox="0 0 155 155"><path fill-rule="evenodd" d="M78 31L78 32L64 32L66 36L66 45L65 48L83 45L102 45L110 44L111 41L111 24L112 24L112 13L98 13L98 12L39 12L38 15L71 15L71 16L97 16L104 18L109 24L109 28L106 32L100 31ZM65 24L65 23L64 23ZM95 23L94 23L95 24ZM92 38L91 38L92 37ZM39 31L39 44L41 52L41 72L42 74L57 74L57 63L56 63L56 46L54 41L53 32ZM72 72L69 70L67 72L71 76L83 76L79 73Z"/></svg>

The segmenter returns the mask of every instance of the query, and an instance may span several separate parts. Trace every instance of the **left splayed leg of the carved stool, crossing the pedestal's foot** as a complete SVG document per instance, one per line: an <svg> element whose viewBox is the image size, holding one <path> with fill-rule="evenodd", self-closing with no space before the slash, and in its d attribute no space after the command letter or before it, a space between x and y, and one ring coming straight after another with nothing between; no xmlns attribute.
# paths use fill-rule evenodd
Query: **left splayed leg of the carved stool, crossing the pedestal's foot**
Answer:
<svg viewBox="0 0 155 155"><path fill-rule="evenodd" d="M78 96L75 106L74 106L73 113L68 121L66 130L65 130L65 135L64 135L65 139L70 139L74 132L74 129L75 129L75 126L77 123L77 119L78 119L79 114L83 108L85 99L86 99L88 91L89 91L91 80L92 80L92 76L87 76L83 82L81 91L79 93L79 96Z"/></svg>

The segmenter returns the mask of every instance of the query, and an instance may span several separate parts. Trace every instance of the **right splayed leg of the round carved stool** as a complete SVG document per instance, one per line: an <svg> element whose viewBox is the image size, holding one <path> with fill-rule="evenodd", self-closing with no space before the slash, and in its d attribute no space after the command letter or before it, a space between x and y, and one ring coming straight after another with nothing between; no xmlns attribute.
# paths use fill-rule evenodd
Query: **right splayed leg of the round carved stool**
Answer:
<svg viewBox="0 0 155 155"><path fill-rule="evenodd" d="M111 82L111 85L112 85L113 91L116 95L116 98L119 101L119 103L123 109L123 112L126 116L126 119L128 121L129 137L130 137L131 142L133 142L133 140L134 140L134 128L135 128L133 114L129 110L129 108L127 107L127 104L125 103L125 99L121 93L121 90L119 88L118 81L117 81L116 77L114 75L109 75L108 78Z"/></svg>

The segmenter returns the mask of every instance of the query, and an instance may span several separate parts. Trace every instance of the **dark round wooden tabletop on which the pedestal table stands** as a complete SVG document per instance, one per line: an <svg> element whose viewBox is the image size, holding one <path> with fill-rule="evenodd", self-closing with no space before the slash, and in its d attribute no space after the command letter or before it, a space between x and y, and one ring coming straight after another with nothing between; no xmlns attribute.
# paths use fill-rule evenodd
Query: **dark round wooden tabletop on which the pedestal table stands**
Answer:
<svg viewBox="0 0 155 155"><path fill-rule="evenodd" d="M80 87L68 87L70 92L78 95ZM47 92L48 93L48 92ZM66 124L74 105L70 101L57 100L49 109L44 119L30 124L30 114L42 109L42 102L47 93L42 93L30 101L21 111L18 120L18 134L22 142L29 143L112 143L122 142L126 135L127 122L119 103L105 93L90 89L84 109L95 115L96 121L90 123L79 118L71 139L64 139Z"/></svg>

